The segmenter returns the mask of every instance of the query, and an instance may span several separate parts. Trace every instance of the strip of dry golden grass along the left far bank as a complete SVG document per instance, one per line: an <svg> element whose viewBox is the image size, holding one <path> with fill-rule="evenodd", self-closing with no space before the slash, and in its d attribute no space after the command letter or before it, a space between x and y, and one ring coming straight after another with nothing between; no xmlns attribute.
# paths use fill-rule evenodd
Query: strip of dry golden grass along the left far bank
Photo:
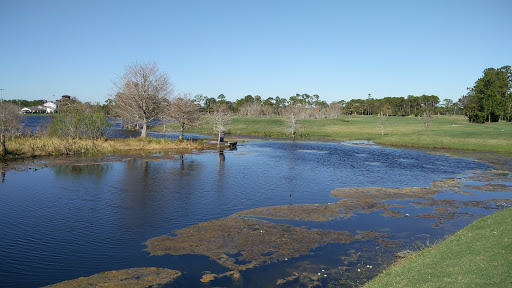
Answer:
<svg viewBox="0 0 512 288"><path fill-rule="evenodd" d="M132 139L69 139L57 137L16 137L6 140L7 159L35 156L84 155L134 151L171 151L204 149L202 142L155 138ZM1 156L0 156L1 157Z"/></svg>

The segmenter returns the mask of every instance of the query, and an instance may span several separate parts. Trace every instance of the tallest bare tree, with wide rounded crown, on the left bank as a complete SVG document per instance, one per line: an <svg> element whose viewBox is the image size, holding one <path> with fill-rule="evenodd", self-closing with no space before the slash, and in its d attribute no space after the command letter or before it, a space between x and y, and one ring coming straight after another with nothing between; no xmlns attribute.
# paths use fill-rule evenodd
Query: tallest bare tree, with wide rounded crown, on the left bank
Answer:
<svg viewBox="0 0 512 288"><path fill-rule="evenodd" d="M114 81L114 107L123 119L142 122L140 137L147 136L148 123L161 115L172 95L172 83L156 63L133 64Z"/></svg>

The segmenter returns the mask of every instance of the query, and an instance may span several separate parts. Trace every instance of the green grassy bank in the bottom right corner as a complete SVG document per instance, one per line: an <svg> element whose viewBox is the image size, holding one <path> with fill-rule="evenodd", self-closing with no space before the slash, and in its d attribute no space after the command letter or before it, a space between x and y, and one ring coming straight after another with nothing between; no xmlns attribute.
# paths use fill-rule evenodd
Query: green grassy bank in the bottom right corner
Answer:
<svg viewBox="0 0 512 288"><path fill-rule="evenodd" d="M476 220L365 287L512 287L512 209Z"/></svg>

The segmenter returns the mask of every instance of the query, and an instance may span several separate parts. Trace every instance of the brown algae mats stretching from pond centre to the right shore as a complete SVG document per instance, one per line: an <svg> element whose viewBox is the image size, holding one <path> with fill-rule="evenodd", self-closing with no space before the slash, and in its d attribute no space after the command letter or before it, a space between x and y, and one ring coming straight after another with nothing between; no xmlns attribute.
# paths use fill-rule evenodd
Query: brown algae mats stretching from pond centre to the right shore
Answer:
<svg viewBox="0 0 512 288"><path fill-rule="evenodd" d="M470 190L507 192L510 191L510 187L504 184L463 185L460 181L447 179L433 181L429 187L338 188L331 191L331 195L343 199L335 203L282 205L249 209L229 217L173 231L173 236L164 235L152 238L146 242L146 250L151 255L206 255L232 271L220 275L207 273L201 279L202 282L210 282L222 277L231 277L236 280L241 277L239 271L308 255L313 249L327 244L343 244L374 239L374 243L380 244L380 247L400 247L403 245L400 241L387 239L386 236L389 236L389 234L374 231L358 231L359 233L353 235L347 231L277 224L272 223L272 219L323 222L350 218L355 216L356 213L380 211L382 216L436 219L438 222L433 222L432 225L439 227L448 219L481 216L470 212L460 212L460 209L496 209L500 203L501 205L512 204L512 200L507 199L462 201L435 198L436 195L447 191L471 196L473 193L469 192ZM390 203L397 200L404 204ZM406 207L405 204L418 209L430 208L430 212L411 216L400 211L401 208ZM366 268L368 269L368 267L370 266L367 265ZM338 267L331 270L331 278L335 273L344 274L344 277L346 277L348 274L344 269L348 269L348 267ZM356 271L361 271L361 268L357 269ZM321 274L319 273L319 275ZM322 279L319 275L293 272L291 276L279 279L276 285L313 283L321 286L325 279ZM324 276L327 277L327 274Z"/></svg>

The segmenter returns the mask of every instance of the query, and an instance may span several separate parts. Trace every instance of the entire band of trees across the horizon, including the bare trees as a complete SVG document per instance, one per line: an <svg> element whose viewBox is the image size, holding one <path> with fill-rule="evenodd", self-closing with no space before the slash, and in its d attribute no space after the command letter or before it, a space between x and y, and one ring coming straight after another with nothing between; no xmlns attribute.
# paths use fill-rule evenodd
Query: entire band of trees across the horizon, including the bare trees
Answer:
<svg viewBox="0 0 512 288"><path fill-rule="evenodd" d="M164 123L176 122L180 125L180 138L185 127L199 123L200 113L222 120L217 119L214 123L219 133L226 129L227 118L233 114L240 117L285 117L292 123L292 134L299 119L337 118L341 115L422 116L427 129L427 120L435 114L464 114L475 123L512 121L510 66L485 69L483 76L457 102L451 99L441 102L438 96L425 94L382 99L372 98L368 94L365 99L341 100L330 104L321 100L318 94L307 93L265 99L259 95L246 95L235 101L227 100L223 94L216 98L201 94L192 98L186 93L175 97L172 82L155 63L127 66L125 73L114 82L114 88L111 99L107 99L104 105L81 103L76 98L63 102L60 107L63 115L53 122L53 134L75 138L104 137L109 125L106 115L119 116L127 126L142 124L142 137L146 136L147 126L153 119L160 119ZM17 111L15 107L41 105L44 102L4 100L4 105L0 105L0 132L12 134L18 131L19 125L11 123L19 123L18 114L12 112ZM12 116L13 113L16 117Z"/></svg>

